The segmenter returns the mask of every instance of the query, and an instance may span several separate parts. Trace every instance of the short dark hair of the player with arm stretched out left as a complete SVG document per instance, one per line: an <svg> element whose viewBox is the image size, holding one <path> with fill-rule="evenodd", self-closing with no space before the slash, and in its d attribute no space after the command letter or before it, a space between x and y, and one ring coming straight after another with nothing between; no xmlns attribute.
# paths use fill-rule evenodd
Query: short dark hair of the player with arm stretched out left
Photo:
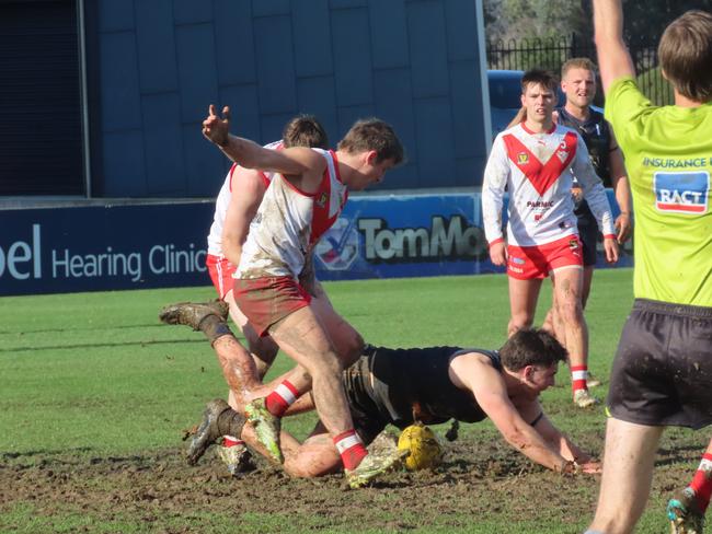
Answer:
<svg viewBox="0 0 712 534"><path fill-rule="evenodd" d="M338 150L352 154L375 150L378 154L376 163L393 160L394 165L400 165L405 158L403 146L391 125L378 118L356 121L338 142Z"/></svg>

